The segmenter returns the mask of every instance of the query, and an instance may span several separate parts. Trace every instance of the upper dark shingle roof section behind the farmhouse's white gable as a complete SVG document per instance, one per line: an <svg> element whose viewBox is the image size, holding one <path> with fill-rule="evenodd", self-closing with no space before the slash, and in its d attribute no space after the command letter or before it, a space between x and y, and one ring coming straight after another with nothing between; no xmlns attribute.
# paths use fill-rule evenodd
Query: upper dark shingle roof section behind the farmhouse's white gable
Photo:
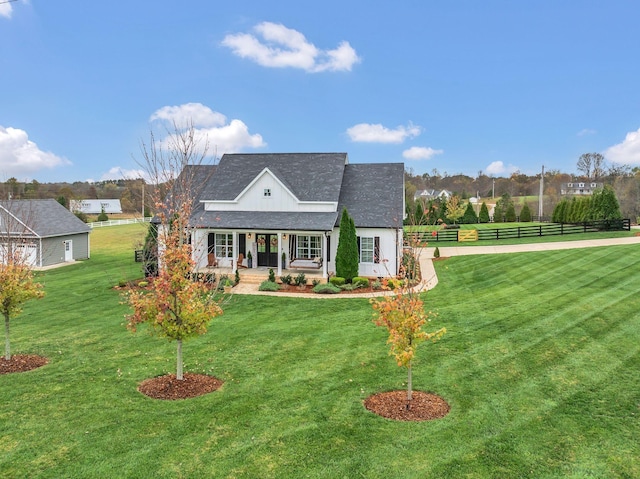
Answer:
<svg viewBox="0 0 640 479"><path fill-rule="evenodd" d="M233 200L269 168L301 201L338 201L346 163L346 153L225 154L202 198Z"/></svg>

